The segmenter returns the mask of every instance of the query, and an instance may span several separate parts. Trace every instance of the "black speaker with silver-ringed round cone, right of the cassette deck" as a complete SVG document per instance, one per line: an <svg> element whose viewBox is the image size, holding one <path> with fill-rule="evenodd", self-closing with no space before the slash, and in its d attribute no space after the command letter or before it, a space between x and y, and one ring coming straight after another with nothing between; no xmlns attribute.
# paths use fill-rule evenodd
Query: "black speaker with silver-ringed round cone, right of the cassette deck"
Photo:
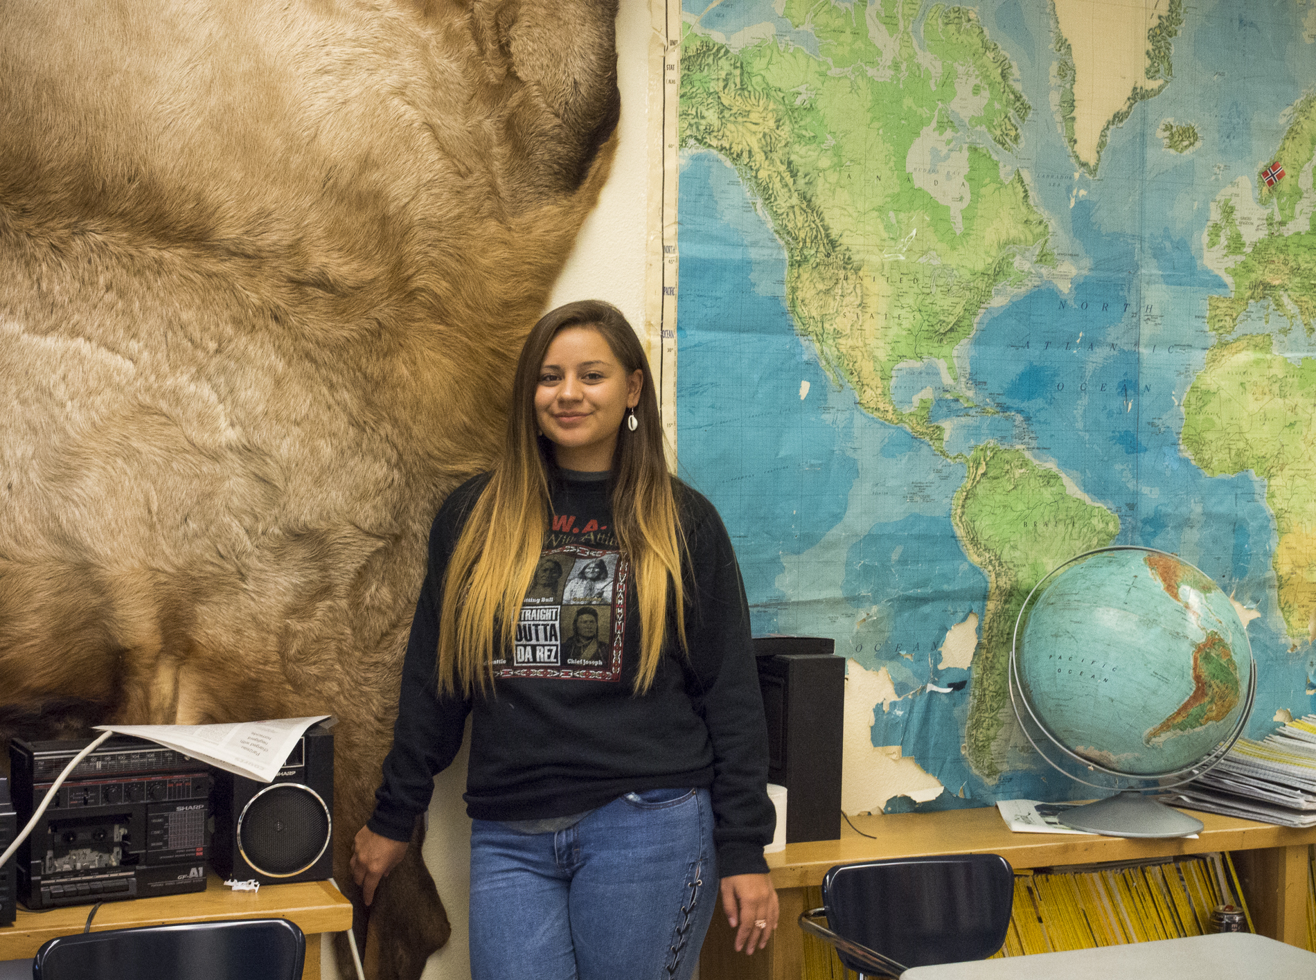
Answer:
<svg viewBox="0 0 1316 980"><path fill-rule="evenodd" d="M263 885L333 875L333 733L307 729L272 783L215 770L211 866Z"/></svg>

